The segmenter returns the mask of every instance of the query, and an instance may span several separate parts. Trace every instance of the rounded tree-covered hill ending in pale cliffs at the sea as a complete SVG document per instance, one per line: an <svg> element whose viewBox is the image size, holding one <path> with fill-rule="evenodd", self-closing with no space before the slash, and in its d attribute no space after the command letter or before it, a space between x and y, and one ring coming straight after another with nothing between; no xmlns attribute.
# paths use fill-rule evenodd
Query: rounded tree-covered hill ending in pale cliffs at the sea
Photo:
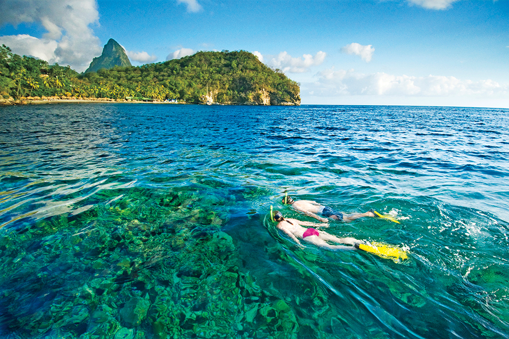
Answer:
<svg viewBox="0 0 509 339"><path fill-rule="evenodd" d="M122 96L178 99L189 103L300 104L299 86L246 51L198 52L140 67L115 67L82 78L119 85Z"/></svg>

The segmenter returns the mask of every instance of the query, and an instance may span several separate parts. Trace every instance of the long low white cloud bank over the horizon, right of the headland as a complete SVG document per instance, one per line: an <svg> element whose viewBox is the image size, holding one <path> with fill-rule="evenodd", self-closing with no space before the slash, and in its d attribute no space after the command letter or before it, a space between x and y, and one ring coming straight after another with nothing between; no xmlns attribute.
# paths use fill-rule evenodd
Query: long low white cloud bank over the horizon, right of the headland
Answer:
<svg viewBox="0 0 509 339"><path fill-rule="evenodd" d="M306 84L306 91L315 96L336 97L352 95L404 97L495 97L506 98L509 84L492 80L460 80L455 77L428 75L425 77L396 76L387 73L362 74L354 70L334 70L319 73L319 79Z"/></svg>

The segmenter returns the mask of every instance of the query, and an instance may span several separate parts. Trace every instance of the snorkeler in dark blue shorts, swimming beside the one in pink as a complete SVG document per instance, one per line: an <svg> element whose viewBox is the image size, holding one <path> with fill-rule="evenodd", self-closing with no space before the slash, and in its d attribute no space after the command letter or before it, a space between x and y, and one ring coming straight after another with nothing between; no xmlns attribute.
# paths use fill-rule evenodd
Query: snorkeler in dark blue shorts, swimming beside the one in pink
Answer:
<svg viewBox="0 0 509 339"><path fill-rule="evenodd" d="M320 203L312 200L297 200L295 201L292 199L292 197L286 196L283 198L282 203L289 204L294 208L295 210L298 210L299 212L302 212L306 215L309 215L309 217L313 217L322 223L326 223L329 220L327 218L331 218L334 220L340 220L349 222L355 219L363 218L363 217L375 217L375 213L370 211L367 211L365 213L352 213L352 214L343 214L341 212L336 212L332 208L328 206L323 206ZM325 218L320 217L322 215Z"/></svg>

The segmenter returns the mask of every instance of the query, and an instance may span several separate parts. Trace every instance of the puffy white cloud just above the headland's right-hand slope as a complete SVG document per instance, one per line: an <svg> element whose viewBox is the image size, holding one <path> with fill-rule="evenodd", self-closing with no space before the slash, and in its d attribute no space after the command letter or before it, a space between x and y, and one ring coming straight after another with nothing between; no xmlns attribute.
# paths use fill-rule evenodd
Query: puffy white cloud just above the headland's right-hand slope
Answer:
<svg viewBox="0 0 509 339"><path fill-rule="evenodd" d="M327 56L327 53L319 51L315 56L311 54L304 54L302 57L292 57L287 52L280 52L276 56L265 55L263 56L260 52L253 52L254 55L258 56L260 61L266 65L280 69L287 73L304 73L309 70L312 66L321 65L323 60Z"/></svg>

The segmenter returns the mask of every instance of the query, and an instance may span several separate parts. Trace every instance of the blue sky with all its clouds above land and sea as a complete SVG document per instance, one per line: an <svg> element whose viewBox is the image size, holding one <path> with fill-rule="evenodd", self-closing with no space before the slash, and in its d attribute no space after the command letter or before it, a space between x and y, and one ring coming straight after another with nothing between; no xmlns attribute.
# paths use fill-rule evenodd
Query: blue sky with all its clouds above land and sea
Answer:
<svg viewBox="0 0 509 339"><path fill-rule="evenodd" d="M83 72L246 50L302 104L509 108L509 0L0 0L0 44Z"/></svg>

